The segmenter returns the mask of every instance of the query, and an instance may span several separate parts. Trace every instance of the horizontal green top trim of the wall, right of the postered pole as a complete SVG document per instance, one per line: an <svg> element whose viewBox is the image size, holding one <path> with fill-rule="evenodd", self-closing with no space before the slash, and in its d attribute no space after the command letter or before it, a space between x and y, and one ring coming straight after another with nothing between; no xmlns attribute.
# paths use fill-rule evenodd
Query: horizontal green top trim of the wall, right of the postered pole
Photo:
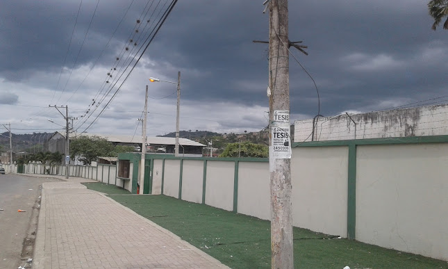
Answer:
<svg viewBox="0 0 448 269"><path fill-rule="evenodd" d="M446 136L410 136L406 138L370 138L356 140L331 140L313 142L295 142L292 147L330 147L348 145L393 145L393 144L415 144L415 143L445 143L448 142Z"/></svg>

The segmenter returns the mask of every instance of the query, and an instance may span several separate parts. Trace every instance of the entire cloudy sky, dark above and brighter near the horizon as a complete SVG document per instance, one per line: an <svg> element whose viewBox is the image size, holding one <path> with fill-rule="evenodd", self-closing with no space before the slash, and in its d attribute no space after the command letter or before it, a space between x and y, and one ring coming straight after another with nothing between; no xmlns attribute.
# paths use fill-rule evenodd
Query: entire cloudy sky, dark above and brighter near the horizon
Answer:
<svg viewBox="0 0 448 269"><path fill-rule="evenodd" d="M138 135L149 85L148 136L172 132L176 85L148 78L181 71L181 130L263 129L267 44L252 42L268 38L263 0L179 1L130 73L169 3L1 1L0 123L56 131L65 122L48 106L67 105L78 133ZM448 100L448 31L431 30L426 1L294 0L289 16L290 40L308 45L308 56L292 52L317 83L320 114ZM290 96L292 120L317 115L313 81L292 58Z"/></svg>

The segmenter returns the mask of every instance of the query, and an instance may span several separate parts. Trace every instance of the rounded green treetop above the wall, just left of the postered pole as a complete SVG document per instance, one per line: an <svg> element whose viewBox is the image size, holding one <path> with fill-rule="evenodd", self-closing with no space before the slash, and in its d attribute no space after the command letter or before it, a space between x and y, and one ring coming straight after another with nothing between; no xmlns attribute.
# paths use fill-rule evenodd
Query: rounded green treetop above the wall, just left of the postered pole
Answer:
<svg viewBox="0 0 448 269"><path fill-rule="evenodd" d="M219 157L253 157L267 158L269 149L265 145L254 144L251 142L230 143Z"/></svg>

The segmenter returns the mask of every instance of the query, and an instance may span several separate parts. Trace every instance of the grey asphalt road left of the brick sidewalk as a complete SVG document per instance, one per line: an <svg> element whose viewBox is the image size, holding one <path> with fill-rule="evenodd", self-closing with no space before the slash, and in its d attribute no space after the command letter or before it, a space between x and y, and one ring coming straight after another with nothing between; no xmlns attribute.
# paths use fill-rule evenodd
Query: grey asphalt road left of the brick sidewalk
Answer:
<svg viewBox="0 0 448 269"><path fill-rule="evenodd" d="M24 266L22 259L33 257L41 186L52 181L60 180L0 174L0 268Z"/></svg>

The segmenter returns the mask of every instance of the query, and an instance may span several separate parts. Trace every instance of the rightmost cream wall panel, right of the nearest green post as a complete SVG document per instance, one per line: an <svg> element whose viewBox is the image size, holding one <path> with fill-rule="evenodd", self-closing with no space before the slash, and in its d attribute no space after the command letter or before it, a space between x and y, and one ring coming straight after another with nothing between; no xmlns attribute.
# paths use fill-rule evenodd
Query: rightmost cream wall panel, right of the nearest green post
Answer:
<svg viewBox="0 0 448 269"><path fill-rule="evenodd" d="M363 145L357 157L356 239L447 260L448 143Z"/></svg>

